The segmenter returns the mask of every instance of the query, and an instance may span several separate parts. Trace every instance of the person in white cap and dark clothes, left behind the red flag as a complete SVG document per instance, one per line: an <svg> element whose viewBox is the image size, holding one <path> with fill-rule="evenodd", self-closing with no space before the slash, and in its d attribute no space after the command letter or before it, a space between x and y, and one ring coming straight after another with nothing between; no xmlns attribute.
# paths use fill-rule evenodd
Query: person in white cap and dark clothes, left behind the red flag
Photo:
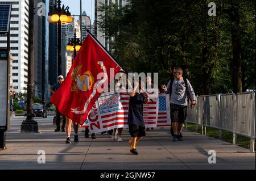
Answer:
<svg viewBox="0 0 256 181"><path fill-rule="evenodd" d="M55 83L49 88L52 94L54 94L54 92L57 89L59 89L61 83L63 82L64 82L63 75L59 75L57 83ZM61 132L65 132L65 124L66 124L65 116L62 116ZM59 132L60 131L60 112L57 109L56 109L56 127L57 128L55 129L55 132Z"/></svg>

